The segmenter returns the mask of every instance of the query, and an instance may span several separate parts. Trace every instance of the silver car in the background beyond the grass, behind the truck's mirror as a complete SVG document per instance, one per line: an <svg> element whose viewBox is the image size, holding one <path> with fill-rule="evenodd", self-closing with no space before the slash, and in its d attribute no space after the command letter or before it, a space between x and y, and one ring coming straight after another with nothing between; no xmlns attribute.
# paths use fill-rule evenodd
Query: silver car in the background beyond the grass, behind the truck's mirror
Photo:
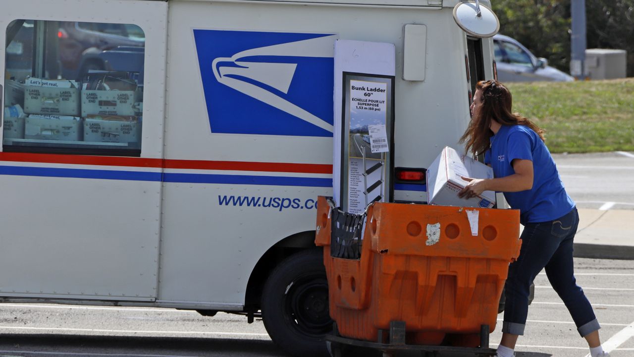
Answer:
<svg viewBox="0 0 634 357"><path fill-rule="evenodd" d="M493 50L500 82L574 81L574 77L550 67L546 58L535 57L512 37L493 36Z"/></svg>

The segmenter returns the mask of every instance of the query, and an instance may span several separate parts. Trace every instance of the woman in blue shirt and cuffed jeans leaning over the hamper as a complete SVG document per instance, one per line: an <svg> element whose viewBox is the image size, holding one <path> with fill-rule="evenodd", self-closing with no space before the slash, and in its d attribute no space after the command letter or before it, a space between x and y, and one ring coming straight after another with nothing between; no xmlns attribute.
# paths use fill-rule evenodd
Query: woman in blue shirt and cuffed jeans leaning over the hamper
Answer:
<svg viewBox="0 0 634 357"><path fill-rule="evenodd" d="M506 305L498 357L514 356L517 337L524 334L529 287L541 269L564 300L577 330L588 341L592 357L609 356L598 336L600 328L590 302L573 274L573 238L579 215L567 195L555 162L544 144L544 131L528 119L512 114L511 93L498 81L475 86L471 122L460 142L465 149L484 152L494 179L464 179L460 192L471 198L482 191L503 192L508 204L520 210L522 248L508 267Z"/></svg>

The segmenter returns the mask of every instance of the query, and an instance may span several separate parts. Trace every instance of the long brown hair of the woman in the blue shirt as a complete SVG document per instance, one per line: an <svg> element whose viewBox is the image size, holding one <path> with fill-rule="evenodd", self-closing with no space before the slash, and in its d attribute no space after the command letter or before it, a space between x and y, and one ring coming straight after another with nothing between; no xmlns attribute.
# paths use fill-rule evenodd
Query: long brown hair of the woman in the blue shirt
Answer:
<svg viewBox="0 0 634 357"><path fill-rule="evenodd" d="M513 97L504 84L489 79L479 81L475 84L475 90L482 92L482 107L477 118L472 118L467 130L460 138L461 143L465 143L465 151L475 154L482 154L489 149L489 138L493 136L491 131L491 120L495 120L501 125L524 125L531 128L542 141L545 141L545 130L535 125L532 121L511 112Z"/></svg>

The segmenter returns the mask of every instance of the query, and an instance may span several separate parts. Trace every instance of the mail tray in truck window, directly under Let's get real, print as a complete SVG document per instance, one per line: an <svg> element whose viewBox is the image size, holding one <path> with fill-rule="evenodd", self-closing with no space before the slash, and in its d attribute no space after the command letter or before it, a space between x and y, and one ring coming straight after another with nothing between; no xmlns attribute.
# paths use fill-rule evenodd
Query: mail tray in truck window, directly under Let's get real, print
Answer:
<svg viewBox="0 0 634 357"><path fill-rule="evenodd" d="M24 112L79 116L79 89L25 86Z"/></svg>

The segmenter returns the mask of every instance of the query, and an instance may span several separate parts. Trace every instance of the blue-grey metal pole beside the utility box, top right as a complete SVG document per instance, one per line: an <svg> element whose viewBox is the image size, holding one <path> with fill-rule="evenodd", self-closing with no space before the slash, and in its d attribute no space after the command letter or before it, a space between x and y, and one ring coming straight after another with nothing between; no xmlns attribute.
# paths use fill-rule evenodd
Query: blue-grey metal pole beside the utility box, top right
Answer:
<svg viewBox="0 0 634 357"><path fill-rule="evenodd" d="M585 79L586 62L586 0L572 0L570 3L572 15L571 60L570 74L576 79Z"/></svg>

